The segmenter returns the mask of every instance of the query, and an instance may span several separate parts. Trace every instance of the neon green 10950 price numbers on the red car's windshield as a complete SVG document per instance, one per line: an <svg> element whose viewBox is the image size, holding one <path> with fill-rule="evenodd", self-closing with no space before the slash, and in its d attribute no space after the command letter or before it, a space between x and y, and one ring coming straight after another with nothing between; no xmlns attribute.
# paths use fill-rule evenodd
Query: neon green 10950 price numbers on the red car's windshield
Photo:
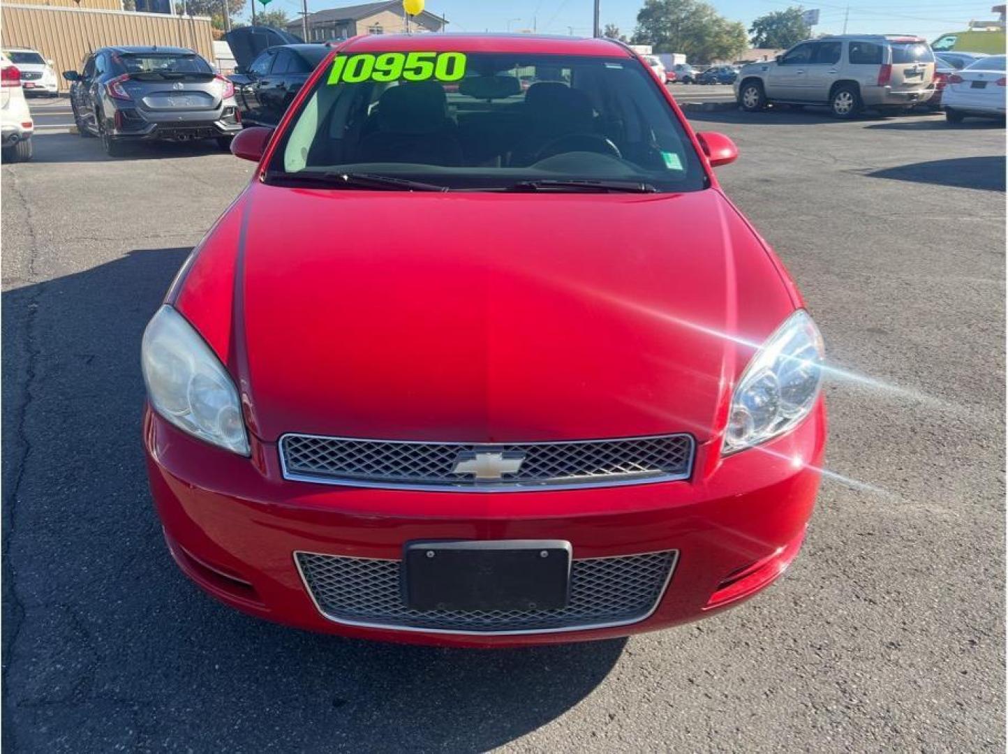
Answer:
<svg viewBox="0 0 1008 754"><path fill-rule="evenodd" d="M337 55L327 84L361 82L457 82L466 75L465 52L361 52Z"/></svg>

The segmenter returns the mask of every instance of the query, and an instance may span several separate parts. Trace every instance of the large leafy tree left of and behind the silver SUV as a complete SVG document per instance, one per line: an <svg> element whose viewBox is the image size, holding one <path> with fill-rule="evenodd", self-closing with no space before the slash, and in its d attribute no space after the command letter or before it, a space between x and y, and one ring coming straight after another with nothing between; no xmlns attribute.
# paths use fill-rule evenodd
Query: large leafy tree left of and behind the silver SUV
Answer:
<svg viewBox="0 0 1008 754"><path fill-rule="evenodd" d="M734 60L748 46L746 27L700 0L646 0L637 13L635 44L681 52L690 62Z"/></svg>

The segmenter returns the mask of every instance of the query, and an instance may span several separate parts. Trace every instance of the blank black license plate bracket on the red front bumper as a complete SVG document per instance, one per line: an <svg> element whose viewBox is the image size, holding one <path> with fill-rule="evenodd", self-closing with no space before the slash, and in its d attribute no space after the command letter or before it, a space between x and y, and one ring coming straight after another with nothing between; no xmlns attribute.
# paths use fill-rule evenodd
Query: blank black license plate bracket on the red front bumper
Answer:
<svg viewBox="0 0 1008 754"><path fill-rule="evenodd" d="M402 587L411 610L558 610L568 602L571 542L409 542Z"/></svg>

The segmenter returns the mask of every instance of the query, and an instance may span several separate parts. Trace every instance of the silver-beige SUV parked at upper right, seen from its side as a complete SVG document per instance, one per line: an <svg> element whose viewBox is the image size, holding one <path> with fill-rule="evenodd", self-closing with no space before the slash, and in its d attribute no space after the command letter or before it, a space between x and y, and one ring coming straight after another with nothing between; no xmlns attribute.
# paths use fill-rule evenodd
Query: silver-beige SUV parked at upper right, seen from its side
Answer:
<svg viewBox="0 0 1008 754"><path fill-rule="evenodd" d="M908 110L934 92L934 54L917 36L826 36L798 42L772 62L745 66L735 81L739 107L829 105L838 118L865 108Z"/></svg>

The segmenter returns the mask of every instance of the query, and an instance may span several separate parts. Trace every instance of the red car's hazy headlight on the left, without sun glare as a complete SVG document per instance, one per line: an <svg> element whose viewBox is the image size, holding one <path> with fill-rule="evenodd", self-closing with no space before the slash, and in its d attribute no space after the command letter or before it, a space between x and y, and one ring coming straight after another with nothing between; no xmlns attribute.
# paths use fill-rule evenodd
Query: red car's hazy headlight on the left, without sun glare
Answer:
<svg viewBox="0 0 1008 754"><path fill-rule="evenodd" d="M140 353L147 397L155 411L196 437L249 455L235 384L181 315L161 306L143 333Z"/></svg>

